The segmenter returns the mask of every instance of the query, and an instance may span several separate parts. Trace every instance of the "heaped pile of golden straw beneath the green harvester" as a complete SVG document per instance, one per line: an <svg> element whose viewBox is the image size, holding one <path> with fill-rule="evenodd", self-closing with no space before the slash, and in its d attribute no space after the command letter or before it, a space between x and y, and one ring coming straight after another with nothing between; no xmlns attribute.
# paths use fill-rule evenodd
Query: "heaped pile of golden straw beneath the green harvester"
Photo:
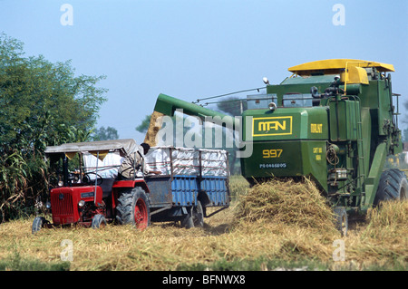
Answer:
<svg viewBox="0 0 408 289"><path fill-rule="evenodd" d="M334 229L333 211L316 185L304 178L271 179L257 184L238 199L236 217L318 229Z"/></svg>

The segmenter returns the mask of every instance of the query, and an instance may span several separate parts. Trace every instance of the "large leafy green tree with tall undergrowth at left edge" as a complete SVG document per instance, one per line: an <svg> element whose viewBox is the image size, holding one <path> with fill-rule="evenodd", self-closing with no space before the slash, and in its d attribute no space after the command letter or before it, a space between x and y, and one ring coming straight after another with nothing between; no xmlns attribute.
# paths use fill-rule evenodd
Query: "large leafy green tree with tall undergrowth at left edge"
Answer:
<svg viewBox="0 0 408 289"><path fill-rule="evenodd" d="M96 86L104 76L75 76L70 61L25 57L23 48L0 34L0 215L5 217L47 191L44 148L89 140L106 101L106 90Z"/></svg>

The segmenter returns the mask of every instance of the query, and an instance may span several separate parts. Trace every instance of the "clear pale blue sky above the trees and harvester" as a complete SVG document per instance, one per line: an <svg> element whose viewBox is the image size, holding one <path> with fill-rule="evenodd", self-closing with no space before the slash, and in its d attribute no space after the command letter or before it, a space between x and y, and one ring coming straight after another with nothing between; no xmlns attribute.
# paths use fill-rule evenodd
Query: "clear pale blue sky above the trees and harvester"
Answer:
<svg viewBox="0 0 408 289"><path fill-rule="evenodd" d="M73 7L73 25L61 23L63 4ZM333 23L335 4L345 25ZM0 31L22 41L27 56L107 76L98 126L138 141L135 127L159 93L195 101L262 87L264 76L278 83L288 67L322 59L393 64L393 92L404 102L407 16L406 0L0 0Z"/></svg>

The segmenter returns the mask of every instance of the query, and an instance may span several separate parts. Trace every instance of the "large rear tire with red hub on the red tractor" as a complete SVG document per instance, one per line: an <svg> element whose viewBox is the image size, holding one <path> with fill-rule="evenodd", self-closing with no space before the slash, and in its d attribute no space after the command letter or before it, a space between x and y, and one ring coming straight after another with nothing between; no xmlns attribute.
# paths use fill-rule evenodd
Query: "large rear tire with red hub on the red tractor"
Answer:
<svg viewBox="0 0 408 289"><path fill-rule="evenodd" d="M122 190L116 209L116 219L122 225L131 224L140 229L151 226L148 197L140 187Z"/></svg>

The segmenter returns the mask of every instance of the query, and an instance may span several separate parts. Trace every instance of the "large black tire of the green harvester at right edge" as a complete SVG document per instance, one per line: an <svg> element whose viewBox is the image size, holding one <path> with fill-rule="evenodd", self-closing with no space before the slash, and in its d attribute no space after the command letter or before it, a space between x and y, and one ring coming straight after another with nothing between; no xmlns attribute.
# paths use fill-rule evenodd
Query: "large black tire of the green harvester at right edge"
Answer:
<svg viewBox="0 0 408 289"><path fill-rule="evenodd" d="M383 201L406 198L408 198L408 182L405 174L399 169L384 170L374 197L374 206L378 206Z"/></svg>

